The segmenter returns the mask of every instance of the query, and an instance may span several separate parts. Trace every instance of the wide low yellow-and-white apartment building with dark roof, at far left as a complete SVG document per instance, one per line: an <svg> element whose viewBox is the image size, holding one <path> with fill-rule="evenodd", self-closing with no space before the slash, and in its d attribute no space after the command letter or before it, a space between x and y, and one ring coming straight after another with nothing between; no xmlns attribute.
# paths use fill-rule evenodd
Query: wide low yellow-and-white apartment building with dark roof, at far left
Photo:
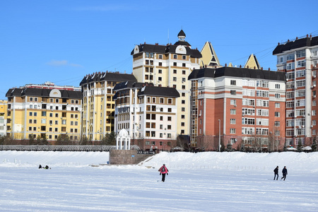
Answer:
<svg viewBox="0 0 318 212"><path fill-rule="evenodd" d="M9 89L7 134L16 140L37 137L53 142L58 136L69 136L71 141L81 139L80 88L26 85Z"/></svg>

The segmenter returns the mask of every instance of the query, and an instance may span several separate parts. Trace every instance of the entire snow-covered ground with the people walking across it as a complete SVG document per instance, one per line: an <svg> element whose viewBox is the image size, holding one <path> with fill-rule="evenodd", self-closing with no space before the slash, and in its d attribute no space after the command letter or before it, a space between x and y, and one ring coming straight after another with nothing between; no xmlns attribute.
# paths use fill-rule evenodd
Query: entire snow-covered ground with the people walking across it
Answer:
<svg viewBox="0 0 318 212"><path fill-rule="evenodd" d="M318 153L160 153L122 166L108 157L0 151L0 210L318 211ZM277 165L285 181L273 181Z"/></svg>

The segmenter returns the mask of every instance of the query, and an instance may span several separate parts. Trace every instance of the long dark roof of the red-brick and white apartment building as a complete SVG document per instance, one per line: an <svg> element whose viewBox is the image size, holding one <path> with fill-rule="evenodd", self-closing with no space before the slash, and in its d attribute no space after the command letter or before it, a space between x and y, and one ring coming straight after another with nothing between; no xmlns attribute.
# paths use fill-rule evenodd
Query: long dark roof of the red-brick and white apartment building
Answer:
<svg viewBox="0 0 318 212"><path fill-rule="evenodd" d="M245 69L237 67L220 67L217 69L204 68L194 69L188 80L196 78L218 78L221 76L232 76L238 78L259 78L272 81L285 81L285 73L281 71L266 71L261 69Z"/></svg>

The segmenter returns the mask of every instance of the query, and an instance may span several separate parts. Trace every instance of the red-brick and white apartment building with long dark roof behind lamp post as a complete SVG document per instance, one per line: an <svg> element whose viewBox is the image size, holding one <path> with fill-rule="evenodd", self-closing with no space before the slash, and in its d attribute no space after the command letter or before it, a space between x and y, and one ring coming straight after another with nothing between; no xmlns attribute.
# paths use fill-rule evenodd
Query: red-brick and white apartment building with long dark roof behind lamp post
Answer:
<svg viewBox="0 0 318 212"><path fill-rule="evenodd" d="M213 151L218 143L248 151L283 149L285 73L224 66L195 69L188 79L192 146Z"/></svg>

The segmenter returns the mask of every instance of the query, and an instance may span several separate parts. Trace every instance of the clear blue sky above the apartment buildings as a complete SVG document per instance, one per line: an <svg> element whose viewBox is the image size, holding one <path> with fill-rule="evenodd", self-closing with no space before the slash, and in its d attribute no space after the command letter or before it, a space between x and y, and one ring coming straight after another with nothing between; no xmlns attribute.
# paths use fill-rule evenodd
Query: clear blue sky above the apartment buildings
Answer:
<svg viewBox="0 0 318 212"><path fill-rule="evenodd" d="M131 73L134 45L173 44L181 29L192 48L210 41L220 64L255 54L276 70L278 42L318 35L317 8L314 0L0 1L0 99L28 83L79 86L88 73Z"/></svg>

